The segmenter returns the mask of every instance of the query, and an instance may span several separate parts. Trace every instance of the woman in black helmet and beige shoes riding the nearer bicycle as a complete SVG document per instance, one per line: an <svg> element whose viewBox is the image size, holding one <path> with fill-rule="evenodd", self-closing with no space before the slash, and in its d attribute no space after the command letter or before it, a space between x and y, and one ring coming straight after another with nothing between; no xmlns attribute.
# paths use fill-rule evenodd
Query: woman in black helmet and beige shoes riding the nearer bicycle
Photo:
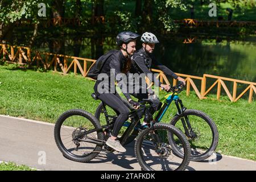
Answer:
<svg viewBox="0 0 256 182"><path fill-rule="evenodd" d="M105 83L102 88L102 81L98 76L96 84L94 85L94 92L97 97L104 102L106 105L112 107L118 113L117 119L115 119L114 128L112 130L111 137L107 140L106 144L112 147L114 150L119 152L125 152L126 149L117 140L117 135L121 130L123 123L128 119L130 113L129 108L123 103L121 97L115 90L114 81L121 81L121 79L115 78L119 73L127 73L130 69L131 55L133 55L136 46L136 39L139 35L133 32L121 32L117 35L116 42L119 47L119 51L112 51L113 53L106 59L104 66L102 67L100 73L105 73L107 79L104 79ZM106 53L107 55L108 53ZM114 77L114 79L110 77ZM123 93L127 100L134 107L138 107L138 102L131 100L128 93Z"/></svg>

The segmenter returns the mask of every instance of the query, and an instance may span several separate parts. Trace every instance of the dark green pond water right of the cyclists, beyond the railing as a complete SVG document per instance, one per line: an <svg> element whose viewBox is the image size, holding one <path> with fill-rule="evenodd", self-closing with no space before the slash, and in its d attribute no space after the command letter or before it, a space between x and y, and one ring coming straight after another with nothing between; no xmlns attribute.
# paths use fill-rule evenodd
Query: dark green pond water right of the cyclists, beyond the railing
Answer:
<svg viewBox="0 0 256 182"><path fill-rule="evenodd" d="M207 39L192 44L164 43L164 49L159 48L156 53L163 64L178 73L205 73L256 82L256 41Z"/></svg>

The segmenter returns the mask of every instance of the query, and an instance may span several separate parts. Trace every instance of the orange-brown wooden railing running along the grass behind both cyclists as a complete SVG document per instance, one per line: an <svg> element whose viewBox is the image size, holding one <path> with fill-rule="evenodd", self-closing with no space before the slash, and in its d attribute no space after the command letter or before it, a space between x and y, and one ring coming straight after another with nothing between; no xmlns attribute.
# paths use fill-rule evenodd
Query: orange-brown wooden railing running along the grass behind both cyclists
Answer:
<svg viewBox="0 0 256 182"><path fill-rule="evenodd" d="M58 55L47 52L39 52L39 51L31 51L28 47L19 47L19 46L9 46L7 44L0 44L0 59L6 61L8 63L18 63L20 65L28 65L28 67L36 65L36 67L43 67L44 69L53 69L54 71L62 71L64 74L67 74L71 69L75 75L78 72L81 73L83 77L86 77L89 69L92 67L93 63L96 60L93 59L85 59L81 57L75 56L67 56L67 55ZM164 73L158 69L152 69L152 72L158 73L158 78L164 84L170 85L168 78ZM181 73L176 73L177 76L185 78L186 81L186 92L187 96L190 94L190 90L195 90L197 97L200 100L207 98L207 94L209 94L210 90L213 90L214 86L217 85L217 100L220 100L221 96L221 87L225 90L225 93L229 97L230 101L236 102L242 96L245 95L249 90L249 98L248 101L253 101L253 94L256 94L256 83L249 81L236 80L232 78L213 76L204 74L203 77L192 76L192 75L184 75ZM207 83L210 79L216 79L216 81L207 89ZM200 84L195 84L195 81L198 80L201 82ZM207 82L208 81L208 82ZM230 93L228 87L226 86L224 81L233 82L233 90ZM148 85L152 86L152 83L147 79ZM177 80L173 79L173 84L176 85ZM237 84L245 84L246 89L237 96Z"/></svg>

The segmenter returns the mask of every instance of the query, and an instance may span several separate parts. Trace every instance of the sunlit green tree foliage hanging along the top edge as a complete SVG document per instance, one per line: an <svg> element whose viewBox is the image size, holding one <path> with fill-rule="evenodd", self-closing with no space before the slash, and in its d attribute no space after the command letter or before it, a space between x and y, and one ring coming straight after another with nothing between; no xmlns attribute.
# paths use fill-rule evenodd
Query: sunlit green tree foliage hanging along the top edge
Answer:
<svg viewBox="0 0 256 182"><path fill-rule="evenodd" d="M0 40L10 38L15 22L20 19L31 19L33 23L39 23L42 19L38 16L39 3L46 4L47 19L79 18L82 26L96 35L123 30L176 31L178 26L170 11L172 9L189 11L197 8L194 7L195 3L198 4L198 0L114 2L115 5L112 0L0 0ZM220 3L229 3L236 9L256 6L255 0L200 0L200 2L201 5L215 2L217 6L220 6ZM111 7L111 13L107 7ZM105 23L97 22L96 18L99 16L105 16ZM114 19L115 23L110 23L109 19ZM35 31L33 35L36 35Z"/></svg>

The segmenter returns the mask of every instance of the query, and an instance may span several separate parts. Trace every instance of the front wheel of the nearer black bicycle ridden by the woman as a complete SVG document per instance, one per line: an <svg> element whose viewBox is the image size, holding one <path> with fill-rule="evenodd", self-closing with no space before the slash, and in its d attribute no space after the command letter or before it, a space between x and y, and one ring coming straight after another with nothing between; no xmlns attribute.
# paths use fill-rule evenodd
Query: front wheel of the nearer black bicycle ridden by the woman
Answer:
<svg viewBox="0 0 256 182"><path fill-rule="evenodd" d="M174 155L168 133L179 138L183 147L183 158ZM139 165L146 171L181 171L190 161L191 149L185 135L172 125L156 123L154 129L139 133L135 142L135 156Z"/></svg>

